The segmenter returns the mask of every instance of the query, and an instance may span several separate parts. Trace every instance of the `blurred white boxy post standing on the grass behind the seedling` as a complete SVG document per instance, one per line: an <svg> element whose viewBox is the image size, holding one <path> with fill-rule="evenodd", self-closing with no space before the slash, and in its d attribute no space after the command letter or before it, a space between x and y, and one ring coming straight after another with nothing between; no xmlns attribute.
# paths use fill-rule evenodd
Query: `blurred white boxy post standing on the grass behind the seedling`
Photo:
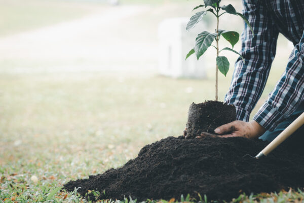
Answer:
<svg viewBox="0 0 304 203"><path fill-rule="evenodd" d="M204 56L198 61L195 54L185 60L194 48L195 39L202 31L202 23L186 31L189 18L169 18L159 26L159 73L173 78L204 78Z"/></svg>

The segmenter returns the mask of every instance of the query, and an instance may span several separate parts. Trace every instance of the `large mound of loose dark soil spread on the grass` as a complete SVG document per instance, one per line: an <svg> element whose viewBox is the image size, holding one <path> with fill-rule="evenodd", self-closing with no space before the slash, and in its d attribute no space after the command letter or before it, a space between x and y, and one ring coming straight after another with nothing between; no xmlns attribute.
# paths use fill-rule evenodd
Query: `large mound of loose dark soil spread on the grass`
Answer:
<svg viewBox="0 0 304 203"><path fill-rule="evenodd" d="M68 191L85 196L100 191L101 199L124 196L149 199L206 194L211 200L231 200L240 193L272 192L304 186L303 155L279 147L264 159L252 159L268 143L245 138L185 140L169 137L143 147L124 166L89 179L70 181ZM105 191L105 195L103 194ZM93 197L90 196L90 199Z"/></svg>

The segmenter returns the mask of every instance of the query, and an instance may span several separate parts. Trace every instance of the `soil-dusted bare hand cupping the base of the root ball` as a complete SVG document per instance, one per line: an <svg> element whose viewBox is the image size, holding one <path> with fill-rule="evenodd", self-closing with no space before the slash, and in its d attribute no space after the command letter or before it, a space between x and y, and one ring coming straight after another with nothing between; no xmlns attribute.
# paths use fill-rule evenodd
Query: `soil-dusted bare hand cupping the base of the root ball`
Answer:
<svg viewBox="0 0 304 203"><path fill-rule="evenodd" d="M220 138L244 137L248 139L255 139L260 137L265 131L265 128L263 128L256 121L233 121L231 123L219 126L214 130L215 133L220 135L202 132L201 136L197 138L209 136Z"/></svg>

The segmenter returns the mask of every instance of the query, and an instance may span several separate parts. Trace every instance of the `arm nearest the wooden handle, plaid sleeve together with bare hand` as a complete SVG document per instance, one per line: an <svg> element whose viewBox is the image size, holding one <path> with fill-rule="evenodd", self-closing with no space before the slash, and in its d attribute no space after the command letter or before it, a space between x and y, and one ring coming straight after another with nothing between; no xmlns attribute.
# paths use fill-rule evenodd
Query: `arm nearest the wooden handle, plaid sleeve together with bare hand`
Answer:
<svg viewBox="0 0 304 203"><path fill-rule="evenodd" d="M254 116L253 121L234 121L216 128L220 137L258 138L265 130L273 130L289 117L304 101L304 32L288 60L288 64L275 89ZM201 136L214 136L203 132Z"/></svg>

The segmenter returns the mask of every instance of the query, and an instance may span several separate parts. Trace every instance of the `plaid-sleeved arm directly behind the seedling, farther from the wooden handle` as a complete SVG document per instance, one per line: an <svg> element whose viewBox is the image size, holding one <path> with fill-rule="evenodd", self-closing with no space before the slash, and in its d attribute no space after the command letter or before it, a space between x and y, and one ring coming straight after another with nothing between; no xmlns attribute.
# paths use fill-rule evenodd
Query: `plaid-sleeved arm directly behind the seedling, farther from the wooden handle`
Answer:
<svg viewBox="0 0 304 203"><path fill-rule="evenodd" d="M245 61L237 60L224 101L235 105L237 120L248 121L268 79L279 32L262 1L244 0L243 4L243 14L250 22L254 36L244 23L241 54Z"/></svg>

